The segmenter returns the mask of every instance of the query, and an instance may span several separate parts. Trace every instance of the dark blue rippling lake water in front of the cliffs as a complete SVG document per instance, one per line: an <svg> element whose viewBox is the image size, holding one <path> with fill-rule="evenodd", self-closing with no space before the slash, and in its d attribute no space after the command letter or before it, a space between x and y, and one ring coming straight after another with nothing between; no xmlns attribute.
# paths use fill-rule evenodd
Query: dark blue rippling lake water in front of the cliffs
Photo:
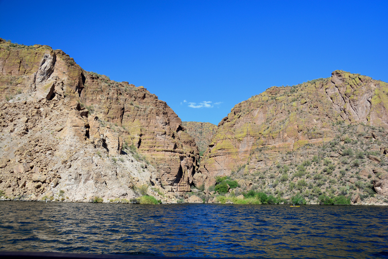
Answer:
<svg viewBox="0 0 388 259"><path fill-rule="evenodd" d="M2 250L388 258L388 208L2 201Z"/></svg>

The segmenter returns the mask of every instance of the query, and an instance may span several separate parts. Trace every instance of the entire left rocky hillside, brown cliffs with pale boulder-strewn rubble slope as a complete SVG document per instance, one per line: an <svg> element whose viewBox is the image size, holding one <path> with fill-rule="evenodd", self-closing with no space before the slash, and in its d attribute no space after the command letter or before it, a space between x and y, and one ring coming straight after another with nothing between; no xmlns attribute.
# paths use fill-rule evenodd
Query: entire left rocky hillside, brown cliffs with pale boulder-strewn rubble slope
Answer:
<svg viewBox="0 0 388 259"><path fill-rule="evenodd" d="M190 190L199 153L173 110L142 86L84 71L61 50L0 39L0 107L6 196L88 201L133 198L144 184L166 195Z"/></svg>

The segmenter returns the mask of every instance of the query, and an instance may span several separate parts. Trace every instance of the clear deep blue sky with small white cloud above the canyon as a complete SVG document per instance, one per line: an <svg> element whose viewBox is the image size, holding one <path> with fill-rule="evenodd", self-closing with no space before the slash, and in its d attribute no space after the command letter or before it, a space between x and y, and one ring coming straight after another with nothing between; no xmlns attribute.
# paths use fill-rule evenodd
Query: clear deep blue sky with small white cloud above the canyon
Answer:
<svg viewBox="0 0 388 259"><path fill-rule="evenodd" d="M0 0L0 37L144 86L182 121L336 69L388 82L387 1L64 2Z"/></svg>

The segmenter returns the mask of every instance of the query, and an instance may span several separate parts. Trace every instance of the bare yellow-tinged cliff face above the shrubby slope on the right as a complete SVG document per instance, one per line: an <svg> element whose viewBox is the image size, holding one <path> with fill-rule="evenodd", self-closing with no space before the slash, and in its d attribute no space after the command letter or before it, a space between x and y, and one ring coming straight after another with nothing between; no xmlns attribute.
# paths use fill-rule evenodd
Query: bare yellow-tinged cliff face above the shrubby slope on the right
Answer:
<svg viewBox="0 0 388 259"><path fill-rule="evenodd" d="M230 175L244 166L246 172L255 172L279 163L287 152L294 152L293 157L312 156L316 150L298 151L332 140L338 134L334 127L338 122L386 129L387 94L386 82L340 70L327 79L271 87L235 105L222 119L200 171Z"/></svg>

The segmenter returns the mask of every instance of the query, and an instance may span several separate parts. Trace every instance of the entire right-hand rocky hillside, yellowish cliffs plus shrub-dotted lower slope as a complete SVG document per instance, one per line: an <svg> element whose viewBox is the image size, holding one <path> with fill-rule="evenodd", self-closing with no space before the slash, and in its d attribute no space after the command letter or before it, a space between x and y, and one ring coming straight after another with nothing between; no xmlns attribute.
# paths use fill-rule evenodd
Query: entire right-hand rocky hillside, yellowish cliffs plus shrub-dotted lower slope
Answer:
<svg viewBox="0 0 388 259"><path fill-rule="evenodd" d="M227 175L282 198L302 194L310 203L347 192L355 203L384 203L387 95L386 82L339 70L271 87L218 124L197 184Z"/></svg>

